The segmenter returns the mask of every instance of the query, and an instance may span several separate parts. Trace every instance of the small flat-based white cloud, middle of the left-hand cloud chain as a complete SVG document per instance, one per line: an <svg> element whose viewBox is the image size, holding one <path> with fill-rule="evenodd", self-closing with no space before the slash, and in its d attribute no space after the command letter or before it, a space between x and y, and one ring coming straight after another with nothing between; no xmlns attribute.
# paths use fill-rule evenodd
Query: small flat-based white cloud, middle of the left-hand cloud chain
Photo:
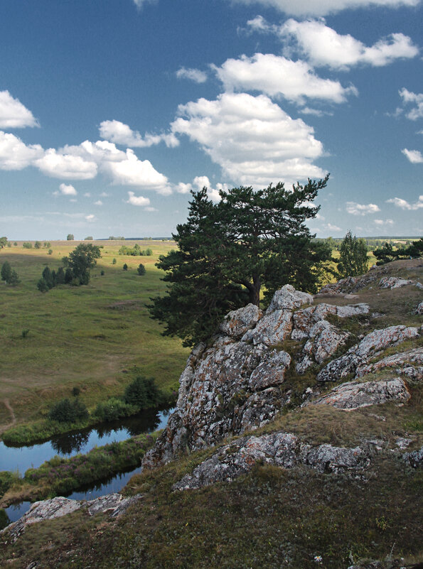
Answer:
<svg viewBox="0 0 423 569"><path fill-rule="evenodd" d="M81 156L60 153L55 148L48 148L44 156L38 158L33 164L50 178L91 180L97 175L97 164L95 162L86 161Z"/></svg>

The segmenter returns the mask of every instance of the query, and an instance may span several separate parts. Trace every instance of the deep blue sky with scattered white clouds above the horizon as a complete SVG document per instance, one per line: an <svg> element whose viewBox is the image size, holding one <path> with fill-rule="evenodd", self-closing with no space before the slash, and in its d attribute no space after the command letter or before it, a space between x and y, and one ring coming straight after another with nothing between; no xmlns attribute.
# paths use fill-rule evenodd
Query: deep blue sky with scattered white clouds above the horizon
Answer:
<svg viewBox="0 0 423 569"><path fill-rule="evenodd" d="M0 234L170 236L189 190L331 178L423 234L421 0L0 0Z"/></svg>

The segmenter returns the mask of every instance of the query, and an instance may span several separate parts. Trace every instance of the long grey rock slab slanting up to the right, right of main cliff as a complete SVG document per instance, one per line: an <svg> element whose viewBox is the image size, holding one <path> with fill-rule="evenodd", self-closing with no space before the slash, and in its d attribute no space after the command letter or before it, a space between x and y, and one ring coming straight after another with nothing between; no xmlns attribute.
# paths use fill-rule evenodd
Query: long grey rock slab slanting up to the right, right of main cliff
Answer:
<svg viewBox="0 0 423 569"><path fill-rule="evenodd" d="M320 372L318 381L338 381L348 374L355 374L358 366L365 364L371 357L375 357L390 346L395 346L408 340L418 337L419 332L416 327L406 327L404 325L390 326L382 330L374 330L361 340L361 342L350 349L348 352L337 359L329 362Z"/></svg>

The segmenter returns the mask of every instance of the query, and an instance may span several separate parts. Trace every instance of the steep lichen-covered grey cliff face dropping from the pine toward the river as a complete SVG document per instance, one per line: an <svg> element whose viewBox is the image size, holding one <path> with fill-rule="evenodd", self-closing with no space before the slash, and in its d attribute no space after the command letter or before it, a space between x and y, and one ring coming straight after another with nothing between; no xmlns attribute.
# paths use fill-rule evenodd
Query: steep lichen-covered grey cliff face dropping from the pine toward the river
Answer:
<svg viewBox="0 0 423 569"><path fill-rule="evenodd" d="M177 409L143 466L271 421L289 402L280 386L291 357L275 346L289 337L293 310L312 302L311 295L286 285L275 293L265 315L252 305L227 315L220 327L223 335L207 349L196 347L188 358Z"/></svg>

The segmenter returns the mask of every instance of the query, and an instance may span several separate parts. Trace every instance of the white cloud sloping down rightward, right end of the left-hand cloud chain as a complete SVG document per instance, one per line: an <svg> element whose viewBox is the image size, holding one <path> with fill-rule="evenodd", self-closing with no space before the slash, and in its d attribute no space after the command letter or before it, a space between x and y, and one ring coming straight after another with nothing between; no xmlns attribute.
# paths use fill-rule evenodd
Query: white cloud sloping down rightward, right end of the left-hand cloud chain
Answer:
<svg viewBox="0 0 423 569"><path fill-rule="evenodd" d="M110 175L115 184L134 185L162 195L172 193L166 176L155 170L149 160L139 160L130 148L127 149L126 160L106 162L102 165L102 171Z"/></svg>

